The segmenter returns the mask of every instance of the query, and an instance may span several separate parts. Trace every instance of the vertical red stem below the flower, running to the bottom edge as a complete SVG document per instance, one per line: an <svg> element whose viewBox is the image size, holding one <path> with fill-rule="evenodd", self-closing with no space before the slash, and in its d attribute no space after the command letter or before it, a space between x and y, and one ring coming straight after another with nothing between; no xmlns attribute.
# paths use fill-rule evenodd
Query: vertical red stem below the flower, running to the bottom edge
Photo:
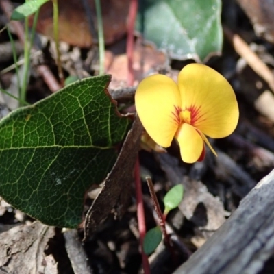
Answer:
<svg viewBox="0 0 274 274"><path fill-rule="evenodd" d="M136 190L136 203L137 203L137 219L138 219L138 229L140 233L140 249L142 254L142 268L144 269L145 274L150 273L149 260L143 249L143 243L146 234L146 225L145 225L145 211L144 205L142 202L142 182L140 179L140 163L137 158L135 168L134 168L134 181L135 181L135 190Z"/></svg>

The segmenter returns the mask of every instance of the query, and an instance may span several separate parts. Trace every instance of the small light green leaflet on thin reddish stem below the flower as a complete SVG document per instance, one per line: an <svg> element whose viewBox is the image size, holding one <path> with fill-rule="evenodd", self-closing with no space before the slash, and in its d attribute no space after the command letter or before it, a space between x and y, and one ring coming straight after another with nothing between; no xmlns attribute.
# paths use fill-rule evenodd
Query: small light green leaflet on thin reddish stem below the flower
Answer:
<svg viewBox="0 0 274 274"><path fill-rule="evenodd" d="M177 208L181 203L184 195L184 187L182 184L173 186L164 196L164 214L168 214L173 208Z"/></svg>

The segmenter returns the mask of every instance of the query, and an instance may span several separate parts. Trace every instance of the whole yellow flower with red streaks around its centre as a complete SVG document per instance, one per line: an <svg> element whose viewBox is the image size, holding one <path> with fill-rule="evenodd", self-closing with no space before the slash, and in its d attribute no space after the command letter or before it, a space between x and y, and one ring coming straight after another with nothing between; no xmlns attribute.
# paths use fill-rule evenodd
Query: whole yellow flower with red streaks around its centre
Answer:
<svg viewBox="0 0 274 274"><path fill-rule="evenodd" d="M182 160L203 160L206 136L232 134L239 110L232 86L219 73L203 64L188 64L180 71L178 84L166 75L151 75L140 82L136 110L151 138L169 147L175 137Z"/></svg>

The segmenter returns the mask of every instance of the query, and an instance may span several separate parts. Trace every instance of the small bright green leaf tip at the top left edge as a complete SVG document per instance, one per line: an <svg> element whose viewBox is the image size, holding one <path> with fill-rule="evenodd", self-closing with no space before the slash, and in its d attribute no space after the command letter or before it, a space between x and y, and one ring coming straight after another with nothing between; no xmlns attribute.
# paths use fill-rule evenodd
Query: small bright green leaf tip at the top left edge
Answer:
<svg viewBox="0 0 274 274"><path fill-rule="evenodd" d="M10 17L11 20L23 20L25 17L34 14L38 11L41 5L49 0L29 0L19 5Z"/></svg>

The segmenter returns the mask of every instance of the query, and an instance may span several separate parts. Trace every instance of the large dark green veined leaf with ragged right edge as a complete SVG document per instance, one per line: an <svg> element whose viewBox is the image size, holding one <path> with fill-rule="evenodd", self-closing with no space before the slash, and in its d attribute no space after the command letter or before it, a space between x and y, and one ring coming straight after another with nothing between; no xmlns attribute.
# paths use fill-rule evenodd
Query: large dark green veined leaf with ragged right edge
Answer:
<svg viewBox="0 0 274 274"><path fill-rule="evenodd" d="M66 86L0 121L0 196L47 225L77 227L129 121L106 95L110 75Z"/></svg>

